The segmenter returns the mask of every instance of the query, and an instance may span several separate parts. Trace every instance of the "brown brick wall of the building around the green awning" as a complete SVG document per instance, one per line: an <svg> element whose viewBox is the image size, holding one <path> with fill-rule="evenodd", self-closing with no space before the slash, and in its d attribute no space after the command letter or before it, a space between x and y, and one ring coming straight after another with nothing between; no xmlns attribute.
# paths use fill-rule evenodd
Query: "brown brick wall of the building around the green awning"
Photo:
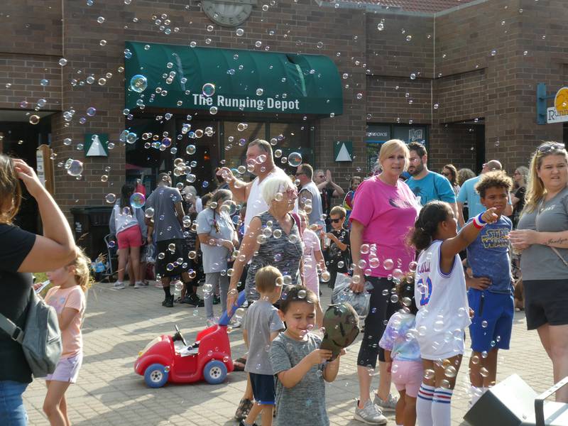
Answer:
<svg viewBox="0 0 568 426"><path fill-rule="evenodd" d="M437 16L334 9L315 2L278 1L268 11L261 6L239 26L242 37L236 37L236 28L215 25L197 3L187 6L186 0L136 0L130 5L96 0L92 6L84 1L22 0L3 6L0 23L11 35L0 40L0 108L19 109L24 99L45 97L45 109L58 111L52 116L55 162L84 161L82 180L56 168L57 199L66 212L75 205L104 204L104 195L118 194L124 182L125 150L118 138L127 123L122 114L124 76L118 69L124 65L125 40L178 45L195 41L209 47L268 48L332 58L339 73L347 75L342 79L344 114L316 121L315 166L332 169L344 187L353 173L366 172L367 123L412 120L430 126L433 170L450 161L475 169L483 160L475 149L483 129L486 158L501 158L510 171L526 163L540 139L562 138L561 125L535 124L535 89L537 82L545 82L552 92L567 82L566 1L484 1ZM163 13L171 21L169 35L153 20ZM104 23L97 23L98 16ZM213 31L207 31L209 25ZM106 45L100 45L101 40ZM254 46L257 40L260 49ZM320 41L322 48L317 47ZM491 55L493 49L496 55ZM67 66L58 65L60 58L68 60ZM109 72L112 76L106 77ZM414 80L411 73L417 75ZM40 86L42 77L50 80L48 87ZM94 83L87 77L94 77ZM97 83L101 77L106 84ZM97 109L94 117L86 116L88 107ZM67 123L62 112L70 109L75 117ZM87 119L84 124L81 116ZM247 115L231 117L246 121ZM485 126L474 124L474 119ZM109 158L84 158L76 149L77 143L84 143L84 133L108 133L116 143ZM63 146L63 138L72 138L73 145ZM353 163L334 162L333 146L340 140L353 141ZM102 174L109 175L108 182L100 181Z"/></svg>

